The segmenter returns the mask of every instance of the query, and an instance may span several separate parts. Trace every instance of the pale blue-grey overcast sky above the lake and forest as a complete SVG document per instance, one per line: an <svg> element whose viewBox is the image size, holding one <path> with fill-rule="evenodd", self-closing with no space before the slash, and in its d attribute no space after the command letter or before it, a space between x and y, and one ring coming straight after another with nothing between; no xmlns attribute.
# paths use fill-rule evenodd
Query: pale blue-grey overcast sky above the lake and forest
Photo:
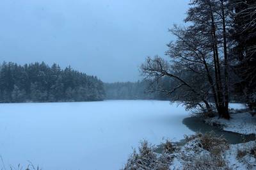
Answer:
<svg viewBox="0 0 256 170"><path fill-rule="evenodd" d="M164 55L168 28L182 24L189 0L1 0L0 61L45 61L137 81L145 57Z"/></svg>

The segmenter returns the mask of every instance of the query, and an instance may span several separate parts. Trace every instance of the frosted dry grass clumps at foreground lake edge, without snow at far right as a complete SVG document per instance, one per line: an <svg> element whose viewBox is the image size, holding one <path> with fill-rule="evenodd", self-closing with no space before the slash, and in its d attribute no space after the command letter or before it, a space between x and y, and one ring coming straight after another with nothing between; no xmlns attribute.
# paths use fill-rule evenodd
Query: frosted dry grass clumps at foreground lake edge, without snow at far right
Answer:
<svg viewBox="0 0 256 170"><path fill-rule="evenodd" d="M143 141L140 144L138 153L134 150L134 153L129 157L124 169L169 169L173 157L180 154L182 165L184 169L228 169L227 164L221 156L224 150L227 150L228 143L223 137L216 136L214 133L208 134L196 134L185 137L187 143L195 140L195 145L198 148L190 148L189 154L179 152L180 150L173 146L170 141L166 141L163 144L163 153L154 153L154 146L148 144L147 141ZM192 142L192 143L193 143ZM194 152L193 152L194 151ZM203 152L202 152L203 151ZM205 151L205 153L204 153Z"/></svg>

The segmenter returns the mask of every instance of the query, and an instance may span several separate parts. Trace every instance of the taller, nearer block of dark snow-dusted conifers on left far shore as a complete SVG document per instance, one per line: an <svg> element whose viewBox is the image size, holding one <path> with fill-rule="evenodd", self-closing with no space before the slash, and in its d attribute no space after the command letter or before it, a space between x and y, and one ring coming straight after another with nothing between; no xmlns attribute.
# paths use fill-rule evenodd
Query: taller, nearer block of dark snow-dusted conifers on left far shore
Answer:
<svg viewBox="0 0 256 170"><path fill-rule="evenodd" d="M97 77L54 64L0 65L0 102L77 102L103 100Z"/></svg>

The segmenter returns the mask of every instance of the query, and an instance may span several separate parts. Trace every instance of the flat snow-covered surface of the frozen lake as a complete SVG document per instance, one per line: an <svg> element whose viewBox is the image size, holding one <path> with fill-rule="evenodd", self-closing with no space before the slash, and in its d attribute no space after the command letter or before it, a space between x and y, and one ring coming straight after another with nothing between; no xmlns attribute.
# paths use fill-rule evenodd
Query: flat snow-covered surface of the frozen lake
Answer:
<svg viewBox="0 0 256 170"><path fill-rule="evenodd" d="M0 155L6 167L120 169L142 139L159 144L194 134L182 106L167 101L0 104ZM0 163L0 168L3 164Z"/></svg>

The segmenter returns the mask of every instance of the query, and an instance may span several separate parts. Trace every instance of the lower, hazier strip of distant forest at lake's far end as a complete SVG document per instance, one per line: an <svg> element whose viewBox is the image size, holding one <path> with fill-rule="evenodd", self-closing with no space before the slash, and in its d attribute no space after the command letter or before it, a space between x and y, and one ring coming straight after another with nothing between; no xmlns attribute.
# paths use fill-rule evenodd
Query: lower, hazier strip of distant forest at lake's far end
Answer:
<svg viewBox="0 0 256 170"><path fill-rule="evenodd" d="M158 83L150 81L137 82L113 82L104 83L106 99L111 100L170 100L170 95L157 91L161 89L170 89L170 80L161 79Z"/></svg>

